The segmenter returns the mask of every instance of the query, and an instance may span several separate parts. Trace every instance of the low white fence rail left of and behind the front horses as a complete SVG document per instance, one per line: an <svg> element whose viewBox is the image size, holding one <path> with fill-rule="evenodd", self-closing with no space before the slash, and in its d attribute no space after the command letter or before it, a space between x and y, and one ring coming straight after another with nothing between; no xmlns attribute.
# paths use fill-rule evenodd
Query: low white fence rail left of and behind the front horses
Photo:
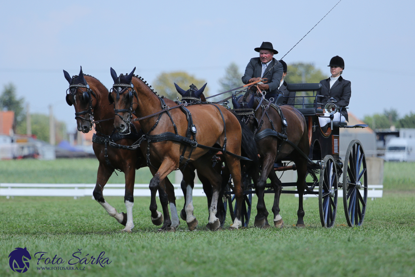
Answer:
<svg viewBox="0 0 415 277"><path fill-rule="evenodd" d="M183 196L180 184L173 184L176 196ZM0 196L92 196L95 184L19 184L0 183ZM134 196L150 196L148 184L135 184ZM106 184L104 187L105 196L124 196L125 184ZM157 192L158 196L158 192ZM201 184L195 184L193 196L205 196Z"/></svg>

